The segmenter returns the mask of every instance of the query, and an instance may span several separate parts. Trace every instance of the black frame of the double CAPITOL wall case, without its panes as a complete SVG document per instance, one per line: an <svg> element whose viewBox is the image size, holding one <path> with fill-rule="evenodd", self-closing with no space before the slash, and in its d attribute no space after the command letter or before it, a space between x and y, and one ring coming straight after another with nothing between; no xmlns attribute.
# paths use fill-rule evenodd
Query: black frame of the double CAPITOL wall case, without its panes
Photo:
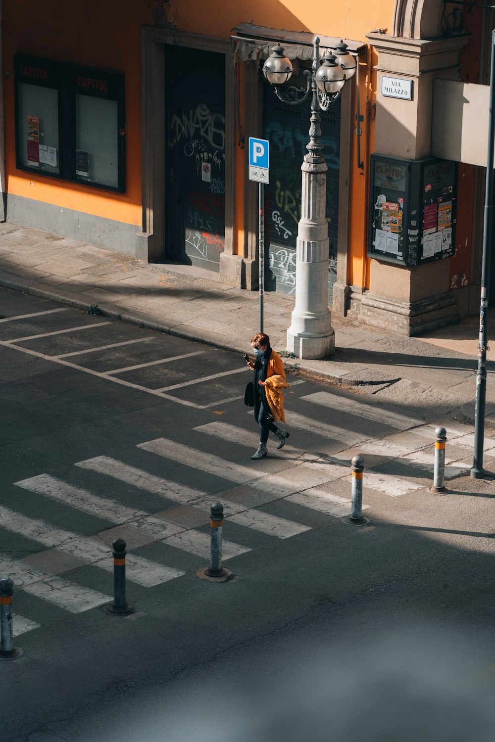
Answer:
<svg viewBox="0 0 495 742"><path fill-rule="evenodd" d="M81 79L85 85L78 84ZM91 81L91 82L88 82ZM63 62L37 57L14 55L15 82L15 130L16 130L16 169L42 177L67 180L88 188L98 188L114 193L125 193L125 75L114 70L101 70L82 65L68 65ZM26 165L22 159L21 84L38 85L42 88L56 89L58 105L58 172ZM117 185L98 183L76 173L76 96L96 96L117 102ZM36 117L36 111L32 112ZM41 129L41 126L39 127ZM39 136L39 133L38 133Z"/></svg>

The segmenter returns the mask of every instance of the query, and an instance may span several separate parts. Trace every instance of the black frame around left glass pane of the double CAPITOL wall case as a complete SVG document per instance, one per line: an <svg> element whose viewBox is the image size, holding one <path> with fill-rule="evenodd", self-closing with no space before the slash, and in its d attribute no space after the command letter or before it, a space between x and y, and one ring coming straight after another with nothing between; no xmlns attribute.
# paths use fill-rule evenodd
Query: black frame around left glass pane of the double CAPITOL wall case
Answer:
<svg viewBox="0 0 495 742"><path fill-rule="evenodd" d="M65 154L65 142L64 142L64 128L63 128L63 103L62 103L62 76L60 65L56 62L51 62L47 59L38 59L36 57L24 56L16 54L14 56L14 79L15 79L15 128L16 128L16 169L23 170L28 173L35 173L43 175L49 178L56 178L56 180L63 179L64 171L64 154ZM39 88L50 88L56 90L57 93L57 108L58 116L57 122L59 127L58 140L56 142L58 152L58 172L40 169L34 165L24 165L22 162L22 138L20 136L21 121L21 105L19 96L21 93L21 85L25 83L27 85L36 85ZM36 111L33 111L36 114Z"/></svg>

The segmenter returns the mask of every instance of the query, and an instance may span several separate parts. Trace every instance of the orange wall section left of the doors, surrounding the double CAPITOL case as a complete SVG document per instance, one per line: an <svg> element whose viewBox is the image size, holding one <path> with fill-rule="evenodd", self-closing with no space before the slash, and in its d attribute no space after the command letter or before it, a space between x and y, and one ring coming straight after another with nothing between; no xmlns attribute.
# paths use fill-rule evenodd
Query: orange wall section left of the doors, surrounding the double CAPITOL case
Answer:
<svg viewBox="0 0 495 742"><path fill-rule="evenodd" d="M4 79L5 168L10 194L140 225L140 27L150 21L147 4L132 0L4 0L3 65L4 72L10 70L10 79ZM125 73L125 194L16 170L15 53Z"/></svg>

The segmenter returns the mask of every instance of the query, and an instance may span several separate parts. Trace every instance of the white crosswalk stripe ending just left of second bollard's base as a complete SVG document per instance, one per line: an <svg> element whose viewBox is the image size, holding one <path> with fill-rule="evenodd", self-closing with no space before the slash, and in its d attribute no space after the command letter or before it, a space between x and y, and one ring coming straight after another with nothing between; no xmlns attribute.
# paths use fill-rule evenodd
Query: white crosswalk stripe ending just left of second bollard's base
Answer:
<svg viewBox="0 0 495 742"><path fill-rule="evenodd" d="M27 567L1 552L0 572L13 580L14 589L20 588L70 613L82 613L111 602L108 595L86 588L84 585L76 585L75 582L64 580L63 577L48 577L44 572Z"/></svg>

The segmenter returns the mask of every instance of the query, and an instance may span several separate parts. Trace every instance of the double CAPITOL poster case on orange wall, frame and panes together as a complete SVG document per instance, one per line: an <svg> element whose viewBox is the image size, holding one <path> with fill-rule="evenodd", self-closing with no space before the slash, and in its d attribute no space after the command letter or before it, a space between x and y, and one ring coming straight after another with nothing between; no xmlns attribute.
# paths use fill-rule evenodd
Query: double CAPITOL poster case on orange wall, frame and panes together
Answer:
<svg viewBox="0 0 495 742"><path fill-rule="evenodd" d="M125 191L124 75L16 55L16 167Z"/></svg>

